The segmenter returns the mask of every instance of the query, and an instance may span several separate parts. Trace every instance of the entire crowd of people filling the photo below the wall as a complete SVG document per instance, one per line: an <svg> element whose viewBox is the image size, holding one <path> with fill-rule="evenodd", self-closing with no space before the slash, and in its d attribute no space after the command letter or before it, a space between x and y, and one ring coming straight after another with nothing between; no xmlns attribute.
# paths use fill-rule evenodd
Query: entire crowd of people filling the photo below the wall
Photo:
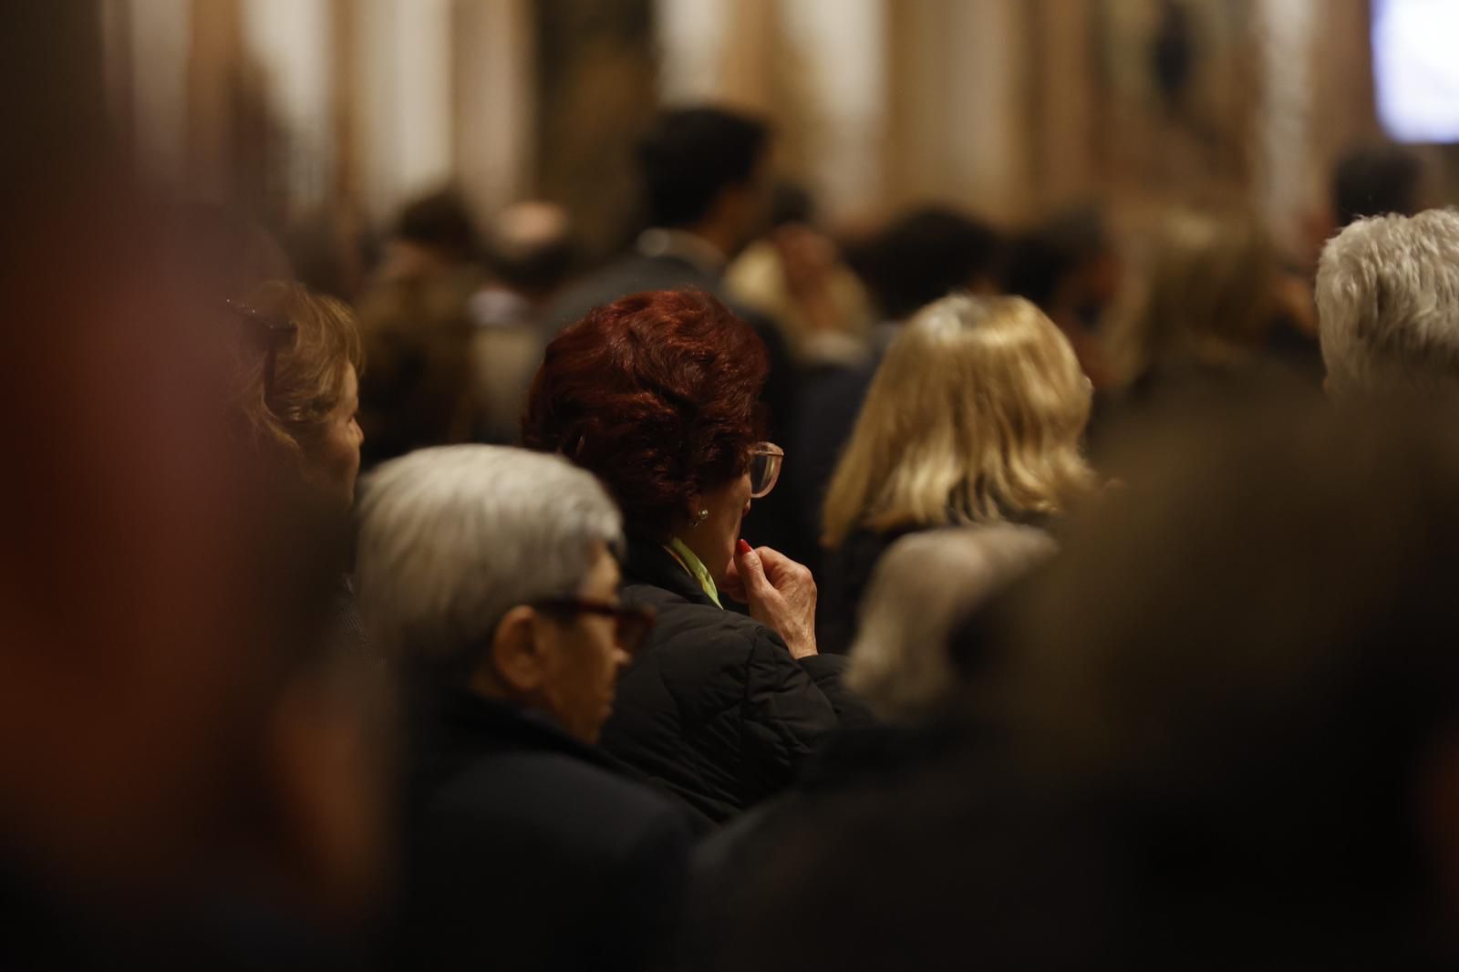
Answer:
<svg viewBox="0 0 1459 972"><path fill-rule="evenodd" d="M441 193L350 295L18 216L13 309L102 324L7 390L0 965L1459 960L1421 166L1344 159L1312 267L1195 210L1137 267L1097 207L837 236L772 143L665 111L608 263Z"/></svg>

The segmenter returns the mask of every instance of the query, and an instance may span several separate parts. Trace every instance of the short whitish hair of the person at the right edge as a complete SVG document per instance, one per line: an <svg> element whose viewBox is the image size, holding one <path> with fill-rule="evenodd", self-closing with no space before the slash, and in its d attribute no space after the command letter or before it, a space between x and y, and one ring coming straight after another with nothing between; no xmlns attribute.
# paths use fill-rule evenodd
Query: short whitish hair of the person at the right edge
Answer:
<svg viewBox="0 0 1459 972"><path fill-rule="evenodd" d="M1459 212L1360 219L1317 264L1328 388L1459 390Z"/></svg>

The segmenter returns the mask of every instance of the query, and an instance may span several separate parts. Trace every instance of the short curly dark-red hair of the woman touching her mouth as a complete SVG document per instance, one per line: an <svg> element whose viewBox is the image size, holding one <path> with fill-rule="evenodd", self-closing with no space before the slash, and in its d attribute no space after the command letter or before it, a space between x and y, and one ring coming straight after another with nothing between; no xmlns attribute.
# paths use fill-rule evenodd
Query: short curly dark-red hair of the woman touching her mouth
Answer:
<svg viewBox="0 0 1459 972"><path fill-rule="evenodd" d="M692 495L744 473L767 368L759 336L708 293L635 293L547 346L522 441L597 474L629 530L658 540Z"/></svg>

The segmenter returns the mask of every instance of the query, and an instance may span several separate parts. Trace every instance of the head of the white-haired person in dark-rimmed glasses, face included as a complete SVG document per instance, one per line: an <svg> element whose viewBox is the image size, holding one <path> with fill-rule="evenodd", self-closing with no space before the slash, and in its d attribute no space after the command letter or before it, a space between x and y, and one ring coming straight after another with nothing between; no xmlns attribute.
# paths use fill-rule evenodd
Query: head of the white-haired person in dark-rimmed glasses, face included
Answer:
<svg viewBox="0 0 1459 972"><path fill-rule="evenodd" d="M622 530L603 486L557 455L457 445L392 460L360 504L371 635L425 684L595 741L636 641L617 601Z"/></svg>

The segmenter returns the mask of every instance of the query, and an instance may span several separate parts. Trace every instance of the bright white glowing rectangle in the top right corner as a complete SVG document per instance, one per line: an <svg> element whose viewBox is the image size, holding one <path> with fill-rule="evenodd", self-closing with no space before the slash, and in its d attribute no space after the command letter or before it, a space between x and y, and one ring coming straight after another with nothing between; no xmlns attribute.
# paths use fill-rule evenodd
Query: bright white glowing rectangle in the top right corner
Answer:
<svg viewBox="0 0 1459 972"><path fill-rule="evenodd" d="M1459 142L1459 0L1373 0L1373 77L1398 142Z"/></svg>

